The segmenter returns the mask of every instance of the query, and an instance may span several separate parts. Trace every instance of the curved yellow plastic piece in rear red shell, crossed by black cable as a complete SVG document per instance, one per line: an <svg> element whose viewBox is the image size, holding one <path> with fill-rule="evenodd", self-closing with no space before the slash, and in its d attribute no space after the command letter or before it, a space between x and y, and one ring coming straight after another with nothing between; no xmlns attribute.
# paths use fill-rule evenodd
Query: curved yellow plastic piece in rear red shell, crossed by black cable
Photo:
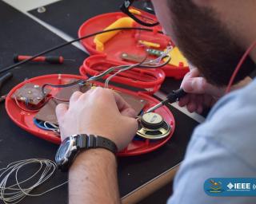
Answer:
<svg viewBox="0 0 256 204"><path fill-rule="evenodd" d="M122 27L133 27L134 20L130 17L119 18L116 22L112 23L110 26L106 27L106 29L116 29ZM106 30L104 29L104 30ZM107 33L101 33L94 37L94 43L96 45L96 50L99 52L104 51L104 44L109 41L112 37L114 37L120 30L115 30Z"/></svg>

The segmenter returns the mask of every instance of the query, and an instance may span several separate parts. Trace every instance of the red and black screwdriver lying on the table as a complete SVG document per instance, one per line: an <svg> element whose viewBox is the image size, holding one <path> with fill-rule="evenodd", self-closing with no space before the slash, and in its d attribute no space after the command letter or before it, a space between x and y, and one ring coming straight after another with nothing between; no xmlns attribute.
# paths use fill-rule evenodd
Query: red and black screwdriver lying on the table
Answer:
<svg viewBox="0 0 256 204"><path fill-rule="evenodd" d="M31 56L28 55L18 55L18 54L14 54L14 62L18 62L18 61L25 61L26 59L30 58ZM32 61L46 61L50 64L62 64L64 61L74 61L73 59L64 59L64 57L62 56L49 56L49 57L44 57L44 56L40 56L40 57L36 57L34 58Z"/></svg>

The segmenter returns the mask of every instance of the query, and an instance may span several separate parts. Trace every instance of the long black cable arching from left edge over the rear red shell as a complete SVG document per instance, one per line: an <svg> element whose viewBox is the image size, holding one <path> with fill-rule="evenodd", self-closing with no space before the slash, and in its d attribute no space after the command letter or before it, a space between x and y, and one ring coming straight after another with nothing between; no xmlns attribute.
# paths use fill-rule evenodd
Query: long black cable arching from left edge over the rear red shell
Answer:
<svg viewBox="0 0 256 204"><path fill-rule="evenodd" d="M41 53L35 54L34 56L32 56L32 57L26 59L25 61L20 61L20 62L14 64L14 65L10 65L10 66L8 66L8 67L6 67L6 68L0 70L0 73L4 73L4 72L6 72L6 71L8 71L8 70L10 70L10 69L14 69L15 67L18 67L19 65L24 65L24 64L26 64L26 62L32 61L32 60L34 60L34 58L36 58L36 57L42 56L42 55L44 55L44 54L46 54L46 53L50 53L50 52L52 52L52 51L54 51L54 50L56 50L56 49L60 49L60 48L62 48L62 47L64 47L64 46L66 46L66 45L70 45L70 44L72 44L72 43L75 42L75 41L81 41L81 40L83 40L83 39L86 39L86 38L89 38L89 37L93 37L93 36L98 35L98 34L101 34L101 33L112 32L112 31L115 31L115 30L133 30L133 29L144 30L144 31L148 31L148 32L153 32L153 31L154 31L154 29L130 28L130 27L121 27L121 28L115 28L115 29L105 29L105 30L102 30L102 31L99 31L99 32L96 32L96 33L88 34L88 35L83 36L83 37L78 37L78 38L74 39L73 41L64 42L64 43L62 43L61 45L56 45L56 46L54 46L54 47L52 47L52 48L50 48L50 49L46 49L46 50L42 51ZM162 31L158 31L158 33L162 33Z"/></svg>

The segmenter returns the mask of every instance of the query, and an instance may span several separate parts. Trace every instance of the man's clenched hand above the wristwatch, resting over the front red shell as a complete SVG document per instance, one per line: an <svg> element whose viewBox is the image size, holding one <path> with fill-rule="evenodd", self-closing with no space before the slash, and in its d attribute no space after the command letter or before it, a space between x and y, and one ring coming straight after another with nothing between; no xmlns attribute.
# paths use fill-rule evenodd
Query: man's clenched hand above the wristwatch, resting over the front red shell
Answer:
<svg viewBox="0 0 256 204"><path fill-rule="evenodd" d="M106 88L74 92L70 106L58 104L56 114L62 140L81 133L101 135L116 143L120 151L138 130L134 110L118 93Z"/></svg>

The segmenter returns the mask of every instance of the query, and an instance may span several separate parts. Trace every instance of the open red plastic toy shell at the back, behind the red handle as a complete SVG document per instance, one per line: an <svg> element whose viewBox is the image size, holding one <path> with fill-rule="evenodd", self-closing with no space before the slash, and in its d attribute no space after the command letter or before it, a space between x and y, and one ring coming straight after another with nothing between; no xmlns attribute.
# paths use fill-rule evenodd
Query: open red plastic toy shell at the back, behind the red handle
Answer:
<svg viewBox="0 0 256 204"><path fill-rule="evenodd" d="M114 23L118 22L122 18L123 22L114 25ZM106 28L122 27L122 25L129 27L143 27L138 26L136 22L131 23L126 20L126 15L120 12L95 16L94 18L90 18L82 24L82 26L78 30L78 37L98 32L99 30ZM110 33L111 37L106 34L107 40L102 43L104 44L102 46L102 51L98 51L95 43L95 37L84 39L81 41L81 43L91 55L95 56L105 53L107 61L116 61L120 64L128 64L130 62L122 61L122 58L120 57L122 53L130 53L141 57L146 56L146 45L139 43L139 41L146 41L145 43L152 42L156 45L159 45L160 47L156 49L165 49L166 45L168 44L174 46L174 44L170 40L170 37L167 37L162 33L158 33L158 31L161 30L161 26L155 26L154 32L134 29L121 30L117 31L116 33ZM90 61L90 57L88 57L86 61ZM166 73L166 77L174 77L176 79L181 79L189 71L188 67L184 66L182 63L180 63L178 66L168 64L161 69Z"/></svg>

